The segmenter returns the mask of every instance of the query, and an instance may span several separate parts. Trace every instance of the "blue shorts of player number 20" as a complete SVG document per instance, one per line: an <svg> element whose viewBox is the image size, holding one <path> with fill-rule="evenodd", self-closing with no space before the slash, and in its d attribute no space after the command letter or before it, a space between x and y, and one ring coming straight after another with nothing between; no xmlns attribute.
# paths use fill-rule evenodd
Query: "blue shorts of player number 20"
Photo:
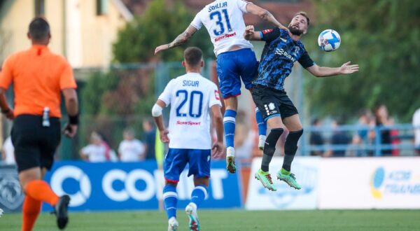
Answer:
<svg viewBox="0 0 420 231"><path fill-rule="evenodd" d="M188 176L194 175L195 178L210 177L211 150L201 149L179 149L169 148L165 156L163 171L165 179L171 182L178 182L179 175L183 172L187 163L190 165Z"/></svg>

